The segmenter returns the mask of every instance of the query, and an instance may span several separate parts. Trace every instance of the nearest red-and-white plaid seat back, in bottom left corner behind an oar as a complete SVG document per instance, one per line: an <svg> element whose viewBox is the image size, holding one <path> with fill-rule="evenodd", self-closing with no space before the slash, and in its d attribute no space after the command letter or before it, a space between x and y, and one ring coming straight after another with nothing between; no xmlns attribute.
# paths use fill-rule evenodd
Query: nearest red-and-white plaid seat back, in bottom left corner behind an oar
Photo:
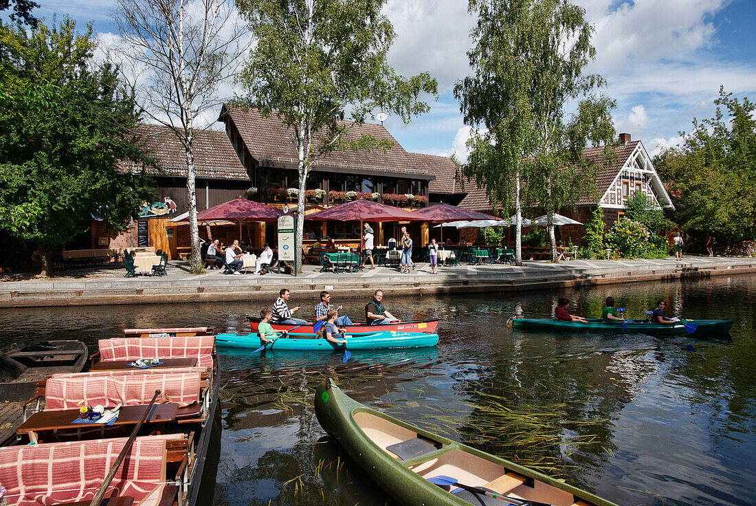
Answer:
<svg viewBox="0 0 756 506"><path fill-rule="evenodd" d="M183 434L143 436L116 472L106 497L131 495L139 506L158 504L166 486L166 440ZM0 449L0 483L8 506L46 506L95 496L128 438L52 442Z"/></svg>

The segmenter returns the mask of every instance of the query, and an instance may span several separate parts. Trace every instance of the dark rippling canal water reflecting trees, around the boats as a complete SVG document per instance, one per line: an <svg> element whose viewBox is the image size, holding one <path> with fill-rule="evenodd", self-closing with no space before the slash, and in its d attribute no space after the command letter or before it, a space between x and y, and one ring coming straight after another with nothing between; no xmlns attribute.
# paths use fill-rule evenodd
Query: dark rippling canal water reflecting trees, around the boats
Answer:
<svg viewBox="0 0 756 506"><path fill-rule="evenodd" d="M559 296L574 301L574 314L600 315L609 295L630 317L642 317L663 297L668 315L733 318L731 338L505 327L511 315L550 315ZM346 364L340 354L222 349L213 504L393 504L324 437L312 396L327 376L369 406L618 504L756 504L754 300L753 275L565 292L387 296L387 309L400 318L442 318L438 346L355 351ZM357 321L367 300L333 302ZM297 304L296 293L290 303ZM208 324L246 334L246 315L262 307L221 296L203 304L0 309L0 338L5 347L79 339L96 351L99 338L123 328ZM312 315L309 307L303 312Z"/></svg>

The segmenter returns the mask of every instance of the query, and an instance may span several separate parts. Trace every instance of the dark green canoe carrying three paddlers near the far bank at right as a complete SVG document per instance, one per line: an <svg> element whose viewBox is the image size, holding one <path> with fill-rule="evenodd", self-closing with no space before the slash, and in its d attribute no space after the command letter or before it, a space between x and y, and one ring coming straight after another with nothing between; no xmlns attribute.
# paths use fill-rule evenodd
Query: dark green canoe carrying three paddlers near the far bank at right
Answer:
<svg viewBox="0 0 756 506"><path fill-rule="evenodd" d="M606 332L612 334L649 334L652 336L690 336L704 337L726 335L733 327L732 320L684 320L676 324L658 324L645 321L627 321L606 323L600 318L587 318L588 323L580 321L559 321L556 318L513 318L512 326L518 330L550 332ZM692 333L684 324L696 325Z"/></svg>

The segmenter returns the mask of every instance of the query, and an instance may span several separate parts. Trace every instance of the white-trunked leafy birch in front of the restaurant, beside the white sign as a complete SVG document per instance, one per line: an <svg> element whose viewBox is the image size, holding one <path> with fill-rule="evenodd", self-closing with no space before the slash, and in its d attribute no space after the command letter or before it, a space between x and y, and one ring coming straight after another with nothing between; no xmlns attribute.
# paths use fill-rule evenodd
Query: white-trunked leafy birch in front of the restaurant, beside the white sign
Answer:
<svg viewBox="0 0 756 506"><path fill-rule="evenodd" d="M423 92L436 94L428 73L405 79L386 61L394 39L386 0L237 0L256 36L238 81L239 103L277 116L293 133L299 158L297 213L305 216L311 167L334 150L390 147L364 135L345 141L353 126L376 109L404 123L429 110ZM344 120L349 116L349 121ZM301 244L304 220L296 239ZM300 259L296 259L300 262Z"/></svg>

